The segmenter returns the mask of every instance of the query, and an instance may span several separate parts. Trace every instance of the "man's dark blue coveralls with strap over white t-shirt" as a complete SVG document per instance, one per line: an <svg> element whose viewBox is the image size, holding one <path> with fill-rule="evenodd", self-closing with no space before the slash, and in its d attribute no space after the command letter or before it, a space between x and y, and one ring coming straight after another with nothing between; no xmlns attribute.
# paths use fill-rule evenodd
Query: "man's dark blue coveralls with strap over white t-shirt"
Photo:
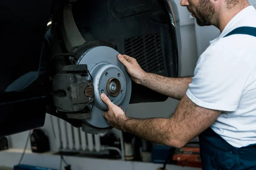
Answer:
<svg viewBox="0 0 256 170"><path fill-rule="evenodd" d="M256 28L239 27L224 37L233 34L256 37ZM199 142L203 170L256 170L256 144L233 147L210 127L199 135Z"/></svg>

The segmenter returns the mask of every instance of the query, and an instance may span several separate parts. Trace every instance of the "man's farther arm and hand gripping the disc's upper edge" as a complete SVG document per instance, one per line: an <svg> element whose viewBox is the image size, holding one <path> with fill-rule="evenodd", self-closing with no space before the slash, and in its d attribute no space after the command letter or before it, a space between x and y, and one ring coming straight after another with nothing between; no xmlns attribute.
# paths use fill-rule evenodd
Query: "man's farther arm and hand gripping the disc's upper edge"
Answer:
<svg viewBox="0 0 256 170"><path fill-rule="evenodd" d="M134 82L175 99L182 99L186 94L189 83L192 82L192 77L170 78L146 73L140 67L136 59L127 55L119 54L118 59L125 65L126 70L131 75Z"/></svg>

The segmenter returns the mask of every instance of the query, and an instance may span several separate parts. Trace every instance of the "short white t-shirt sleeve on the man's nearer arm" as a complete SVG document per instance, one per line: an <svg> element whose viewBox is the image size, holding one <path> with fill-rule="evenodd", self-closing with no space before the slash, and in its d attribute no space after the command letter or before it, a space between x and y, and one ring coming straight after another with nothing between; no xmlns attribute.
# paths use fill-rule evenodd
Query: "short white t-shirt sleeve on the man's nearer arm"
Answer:
<svg viewBox="0 0 256 170"><path fill-rule="evenodd" d="M209 47L198 59L186 95L203 108L235 111L246 79L242 57L221 46Z"/></svg>

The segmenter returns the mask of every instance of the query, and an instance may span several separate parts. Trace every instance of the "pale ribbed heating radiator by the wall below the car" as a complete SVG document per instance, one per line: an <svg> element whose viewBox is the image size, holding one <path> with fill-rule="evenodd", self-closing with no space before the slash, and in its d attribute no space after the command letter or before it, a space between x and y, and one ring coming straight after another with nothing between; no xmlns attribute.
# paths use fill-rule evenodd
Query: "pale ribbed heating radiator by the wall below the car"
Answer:
<svg viewBox="0 0 256 170"><path fill-rule="evenodd" d="M51 150L56 151L62 149L64 152L74 152L74 153L87 153L87 154L107 154L108 150L116 150L122 156L124 160L124 147L123 147L123 137L122 131L112 129L112 133L115 130L116 137L120 138L121 150L118 147L109 147L107 145L102 145L100 141L101 134L89 134L84 133L81 128L76 128L67 123L63 119L59 119L55 116L50 115L52 132L55 138L56 147ZM57 149L58 148L58 149Z"/></svg>

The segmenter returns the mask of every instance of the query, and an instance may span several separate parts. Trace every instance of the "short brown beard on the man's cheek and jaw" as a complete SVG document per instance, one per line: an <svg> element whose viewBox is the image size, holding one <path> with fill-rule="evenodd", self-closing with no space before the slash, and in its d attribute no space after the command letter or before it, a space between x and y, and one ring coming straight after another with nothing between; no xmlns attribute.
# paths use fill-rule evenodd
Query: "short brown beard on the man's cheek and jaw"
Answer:
<svg viewBox="0 0 256 170"><path fill-rule="evenodd" d="M210 0L200 0L194 14L198 26L210 26L215 16L215 8Z"/></svg>

